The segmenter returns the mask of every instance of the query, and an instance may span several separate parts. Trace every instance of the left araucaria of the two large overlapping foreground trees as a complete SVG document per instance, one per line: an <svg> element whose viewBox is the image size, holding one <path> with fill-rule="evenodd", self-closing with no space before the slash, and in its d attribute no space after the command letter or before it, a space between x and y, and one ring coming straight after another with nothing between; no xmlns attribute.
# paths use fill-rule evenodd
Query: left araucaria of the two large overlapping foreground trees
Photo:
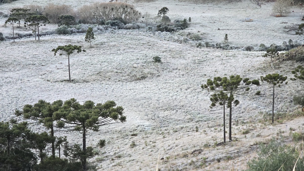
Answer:
<svg viewBox="0 0 304 171"><path fill-rule="evenodd" d="M24 119L35 121L34 123L41 123L44 127L50 130L50 140L52 147L52 156L55 157L55 137L54 128L55 118L54 113L61 109L63 106L62 100L54 101L53 103L46 102L45 100L38 100L34 105L26 104L22 110L16 110L16 116L22 116Z"/></svg>

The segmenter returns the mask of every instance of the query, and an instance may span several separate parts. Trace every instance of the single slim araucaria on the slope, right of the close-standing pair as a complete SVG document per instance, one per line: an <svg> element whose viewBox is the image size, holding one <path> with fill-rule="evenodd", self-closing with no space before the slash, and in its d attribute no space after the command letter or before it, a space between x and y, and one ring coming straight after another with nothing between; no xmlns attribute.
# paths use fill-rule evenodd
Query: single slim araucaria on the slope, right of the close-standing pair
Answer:
<svg viewBox="0 0 304 171"><path fill-rule="evenodd" d="M274 121L274 106L275 106L275 86L280 87L281 84L286 81L287 77L284 77L283 75L279 75L277 73L275 74L268 74L266 76L261 76L261 82L263 82L265 85L271 85L273 86L273 92L272 92L272 123ZM288 82L285 82L287 84Z"/></svg>

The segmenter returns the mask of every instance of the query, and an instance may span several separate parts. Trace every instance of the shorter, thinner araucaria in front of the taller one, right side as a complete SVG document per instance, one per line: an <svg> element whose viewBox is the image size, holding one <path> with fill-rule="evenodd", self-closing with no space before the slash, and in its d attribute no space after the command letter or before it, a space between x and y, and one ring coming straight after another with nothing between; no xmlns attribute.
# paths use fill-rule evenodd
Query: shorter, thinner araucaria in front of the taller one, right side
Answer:
<svg viewBox="0 0 304 171"><path fill-rule="evenodd" d="M228 106L233 104L234 106L237 106L240 102L236 99L234 100L233 96L228 97L227 93L223 92L222 90L219 91L219 93L214 93L211 95L210 101L212 102L211 105L209 106L211 109L212 108L220 108L223 106L223 126L224 126L224 143L226 143L226 124L225 124L225 106L230 108L231 106Z"/></svg>

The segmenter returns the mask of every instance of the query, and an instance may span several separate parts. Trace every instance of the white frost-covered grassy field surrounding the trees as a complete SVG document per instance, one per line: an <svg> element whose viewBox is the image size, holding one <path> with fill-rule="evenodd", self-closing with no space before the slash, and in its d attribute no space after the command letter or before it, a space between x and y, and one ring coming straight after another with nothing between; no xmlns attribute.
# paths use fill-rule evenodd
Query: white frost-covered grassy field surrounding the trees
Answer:
<svg viewBox="0 0 304 171"><path fill-rule="evenodd" d="M0 11L29 2L19 0L1 5ZM53 2L76 8L93 1ZM47 3L41 2L41 5ZM276 18L269 16L272 3L266 3L262 8L247 1L190 4L170 0L133 4L138 10L149 11L154 16L163 6L170 9L168 16L171 19L190 16L193 21L190 27L179 33L200 31L204 40L212 42L222 42L225 33L230 36L231 45L282 44L290 38L302 42L302 37L295 36L294 31L285 32L284 29L284 26L297 28L295 24L300 23L301 13L298 8L293 9L295 12L287 17ZM253 18L254 22L242 22L247 16ZM5 19L0 18L0 21L4 23ZM43 32L56 28L56 25L41 28L44 28ZM11 26L0 27L0 32L4 36L9 34L12 32ZM25 31L16 29L16 32ZM193 159L199 164L202 157L208 157L211 161L206 169L225 170L231 168L233 162L240 162L241 169L245 167L247 159L255 155L249 148L259 140L254 134L270 137L278 128L288 132L289 125L297 127L303 123L303 118L299 118L299 122L293 120L265 130L255 129L252 131L254 134L248 134L247 138L240 134L240 130L246 129L246 126L233 126L233 139L237 138L239 142L204 149L206 152L198 156L190 155L194 149L203 148L205 143L213 145L223 139L222 133L214 133L207 128L207 125L220 126L223 116L221 109L209 109L210 96L202 91L201 84L215 76L237 74L250 79L259 79L261 75L275 72L290 77L290 70L299 64L277 62L276 69L271 69L270 59L261 57L264 52L199 49L191 43L174 42L177 34L145 29L98 31L92 48L84 41L85 33L43 36L39 42L33 37L17 39L15 43L12 40L1 42L0 118L8 120L14 117L15 109L36 103L39 99L53 102L76 98L79 102L93 100L95 103L114 100L125 108L127 122L102 127L100 132L88 134L88 145L94 145L101 138L108 141L101 149L105 153L90 160L102 164L100 170L155 170L159 152L160 158L170 156L168 163L160 162L161 170L183 167L192 170L195 167L188 163ZM65 44L81 45L87 51L70 59L73 83L63 81L68 79L67 58L54 56L51 52L53 48ZM152 61L156 55L162 58L162 63ZM292 105L292 96L299 87L299 84L290 81L288 85L276 89L275 110L294 111L296 106ZM233 108L233 123L235 120L256 121L262 116L259 112L271 111L271 87L259 86L257 90L261 90L261 97L237 97L240 105ZM228 125L228 120L226 123ZM195 126L199 127L199 132L195 132ZM37 131L43 129L33 127ZM204 129L207 134L204 134ZM131 133L138 135L133 137ZM57 132L59 134L64 133ZM73 136L69 134L69 138L71 143L81 142L81 134L77 132ZM130 148L132 141L136 143L134 148ZM122 158L115 158L118 154ZM219 155L231 155L234 160L226 163L212 161ZM217 166L220 169L216 169Z"/></svg>

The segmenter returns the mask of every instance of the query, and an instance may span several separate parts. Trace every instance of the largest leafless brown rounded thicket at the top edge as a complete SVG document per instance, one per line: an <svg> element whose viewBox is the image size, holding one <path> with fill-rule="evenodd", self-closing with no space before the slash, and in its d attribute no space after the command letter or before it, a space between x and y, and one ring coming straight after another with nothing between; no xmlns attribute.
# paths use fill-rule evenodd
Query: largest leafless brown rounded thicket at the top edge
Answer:
<svg viewBox="0 0 304 171"><path fill-rule="evenodd" d="M119 20L127 24L137 21L141 16L133 5L124 2L102 2L84 5L78 9L82 23L102 24L108 20Z"/></svg>

